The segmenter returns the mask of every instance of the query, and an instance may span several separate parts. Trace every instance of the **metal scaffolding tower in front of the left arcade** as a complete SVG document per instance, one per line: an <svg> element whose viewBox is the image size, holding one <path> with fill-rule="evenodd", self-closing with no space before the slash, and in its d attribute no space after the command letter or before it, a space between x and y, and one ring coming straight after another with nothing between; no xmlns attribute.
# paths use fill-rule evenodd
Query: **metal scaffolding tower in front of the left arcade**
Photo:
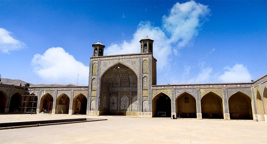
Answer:
<svg viewBox="0 0 267 144"><path fill-rule="evenodd" d="M36 114L39 91L37 91L37 93L33 92L36 91L24 91L24 94L22 95L22 107L20 107L20 114Z"/></svg>

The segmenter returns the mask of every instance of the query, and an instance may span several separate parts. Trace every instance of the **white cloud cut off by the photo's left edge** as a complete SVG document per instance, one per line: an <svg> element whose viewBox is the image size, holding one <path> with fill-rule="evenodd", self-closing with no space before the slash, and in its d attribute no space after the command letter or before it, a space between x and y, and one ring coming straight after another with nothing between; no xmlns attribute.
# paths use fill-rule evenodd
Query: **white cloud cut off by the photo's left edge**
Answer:
<svg viewBox="0 0 267 144"><path fill-rule="evenodd" d="M0 50L4 53L9 53L12 50L25 48L26 44L22 41L16 40L10 36L11 32L0 28Z"/></svg>

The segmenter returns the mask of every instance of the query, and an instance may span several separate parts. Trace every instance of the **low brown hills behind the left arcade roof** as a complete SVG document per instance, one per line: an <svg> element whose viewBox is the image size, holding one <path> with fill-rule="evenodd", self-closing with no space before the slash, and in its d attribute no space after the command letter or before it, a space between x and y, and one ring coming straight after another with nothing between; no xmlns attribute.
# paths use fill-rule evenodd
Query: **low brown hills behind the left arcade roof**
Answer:
<svg viewBox="0 0 267 144"><path fill-rule="evenodd" d="M8 85L21 85L23 86L24 84L26 84L27 82L24 82L22 80L12 80L12 79L8 79L8 78L1 78L1 82L3 84L8 84ZM46 85L46 84L38 84L38 85L34 85L30 83L30 87L58 87L58 86L67 86L67 85L58 85L58 84L50 84L50 85ZM73 84L68 84L68 86L76 86Z"/></svg>

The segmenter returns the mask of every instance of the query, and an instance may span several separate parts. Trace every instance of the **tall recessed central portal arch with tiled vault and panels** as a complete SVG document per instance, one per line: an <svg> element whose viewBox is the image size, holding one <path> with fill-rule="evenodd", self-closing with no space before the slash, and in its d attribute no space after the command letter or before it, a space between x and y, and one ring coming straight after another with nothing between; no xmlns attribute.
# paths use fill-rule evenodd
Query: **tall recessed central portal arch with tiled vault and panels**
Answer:
<svg viewBox="0 0 267 144"><path fill-rule="evenodd" d="M99 115L138 116L137 75L130 67L118 63L104 72L100 80ZM96 80L92 79L92 90ZM92 103L92 100L91 102ZM90 110L97 110L90 104Z"/></svg>

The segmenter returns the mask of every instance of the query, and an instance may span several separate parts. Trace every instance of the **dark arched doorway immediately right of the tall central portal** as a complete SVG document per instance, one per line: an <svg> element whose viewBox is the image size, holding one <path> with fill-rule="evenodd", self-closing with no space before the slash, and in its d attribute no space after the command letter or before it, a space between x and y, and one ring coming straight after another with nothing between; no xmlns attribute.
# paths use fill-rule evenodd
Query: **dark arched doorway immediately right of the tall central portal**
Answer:
<svg viewBox="0 0 267 144"><path fill-rule="evenodd" d="M152 100L153 117L171 117L171 98L164 93L159 93Z"/></svg>

